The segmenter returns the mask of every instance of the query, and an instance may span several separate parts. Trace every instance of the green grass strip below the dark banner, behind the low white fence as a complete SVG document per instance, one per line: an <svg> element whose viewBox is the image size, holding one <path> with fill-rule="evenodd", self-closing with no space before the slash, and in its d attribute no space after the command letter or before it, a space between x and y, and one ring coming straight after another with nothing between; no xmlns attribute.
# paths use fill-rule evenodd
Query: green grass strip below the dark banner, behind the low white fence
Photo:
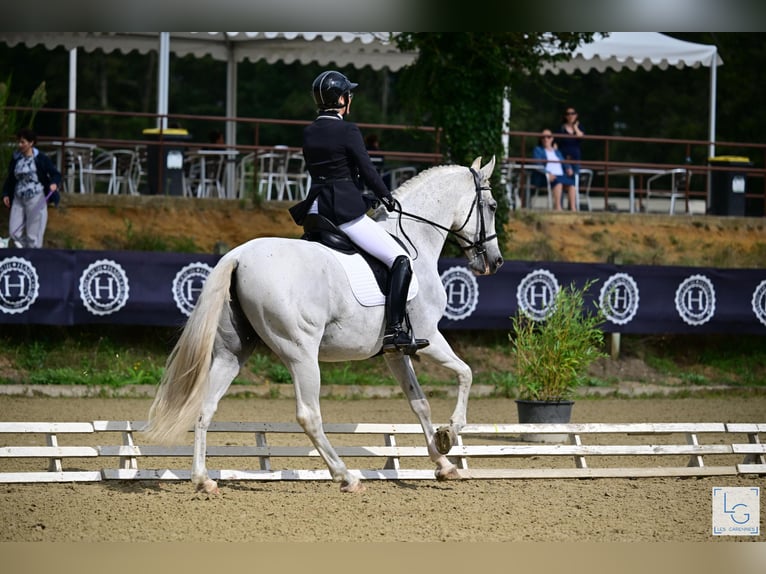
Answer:
<svg viewBox="0 0 766 574"><path fill-rule="evenodd" d="M0 336L0 384L155 385L180 331L136 326L19 326ZM455 351L474 372L474 383L514 396L514 357L508 334L447 332ZM589 385L619 382L766 389L766 338L731 335L623 335L621 356L591 369ZM416 361L421 384L454 385L451 374ZM325 363L325 384L396 385L385 362ZM289 385L290 375L265 345L259 345L234 384Z"/></svg>

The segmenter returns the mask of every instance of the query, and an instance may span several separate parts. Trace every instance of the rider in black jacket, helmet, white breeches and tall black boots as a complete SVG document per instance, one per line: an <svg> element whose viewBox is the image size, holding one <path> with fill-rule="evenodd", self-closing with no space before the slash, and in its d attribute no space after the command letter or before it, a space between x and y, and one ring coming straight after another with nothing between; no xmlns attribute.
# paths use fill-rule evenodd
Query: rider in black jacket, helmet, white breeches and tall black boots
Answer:
<svg viewBox="0 0 766 574"><path fill-rule="evenodd" d="M344 121L358 84L334 70L322 72L312 85L318 116L303 131L303 156L311 174L306 199L290 208L295 222L303 224L309 213L332 221L357 247L382 261L389 269L386 299L384 352L414 354L426 347L402 323L412 278L410 258L404 248L366 213L370 204L362 195L366 184L390 212L396 208L364 145L356 124Z"/></svg>

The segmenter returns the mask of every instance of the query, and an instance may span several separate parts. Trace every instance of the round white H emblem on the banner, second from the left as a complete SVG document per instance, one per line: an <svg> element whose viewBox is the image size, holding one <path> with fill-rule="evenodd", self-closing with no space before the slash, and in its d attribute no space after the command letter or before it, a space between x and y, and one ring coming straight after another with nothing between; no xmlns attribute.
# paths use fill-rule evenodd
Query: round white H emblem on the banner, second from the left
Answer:
<svg viewBox="0 0 766 574"><path fill-rule="evenodd" d="M80 298L94 315L109 315L128 302L128 276L115 261L99 259L80 275Z"/></svg>

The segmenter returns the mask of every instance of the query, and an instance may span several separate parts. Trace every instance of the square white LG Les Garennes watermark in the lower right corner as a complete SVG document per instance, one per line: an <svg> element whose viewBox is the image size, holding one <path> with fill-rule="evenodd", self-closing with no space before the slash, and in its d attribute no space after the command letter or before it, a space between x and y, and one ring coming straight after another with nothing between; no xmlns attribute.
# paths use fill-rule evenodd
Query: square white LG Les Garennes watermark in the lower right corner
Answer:
<svg viewBox="0 0 766 574"><path fill-rule="evenodd" d="M713 535L758 536L760 497L758 486L713 487Z"/></svg>

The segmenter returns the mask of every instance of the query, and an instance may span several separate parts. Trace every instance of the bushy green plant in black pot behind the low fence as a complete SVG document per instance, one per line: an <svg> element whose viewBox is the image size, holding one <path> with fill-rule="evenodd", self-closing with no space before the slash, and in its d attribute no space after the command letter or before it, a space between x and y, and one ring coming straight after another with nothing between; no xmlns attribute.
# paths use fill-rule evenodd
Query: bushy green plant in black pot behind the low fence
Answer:
<svg viewBox="0 0 766 574"><path fill-rule="evenodd" d="M523 311L513 318L511 341L516 361L514 384L520 423L568 423L572 397L601 350L603 311L586 309L585 294L574 283L559 289L542 321ZM566 435L522 435L523 440L562 442Z"/></svg>

